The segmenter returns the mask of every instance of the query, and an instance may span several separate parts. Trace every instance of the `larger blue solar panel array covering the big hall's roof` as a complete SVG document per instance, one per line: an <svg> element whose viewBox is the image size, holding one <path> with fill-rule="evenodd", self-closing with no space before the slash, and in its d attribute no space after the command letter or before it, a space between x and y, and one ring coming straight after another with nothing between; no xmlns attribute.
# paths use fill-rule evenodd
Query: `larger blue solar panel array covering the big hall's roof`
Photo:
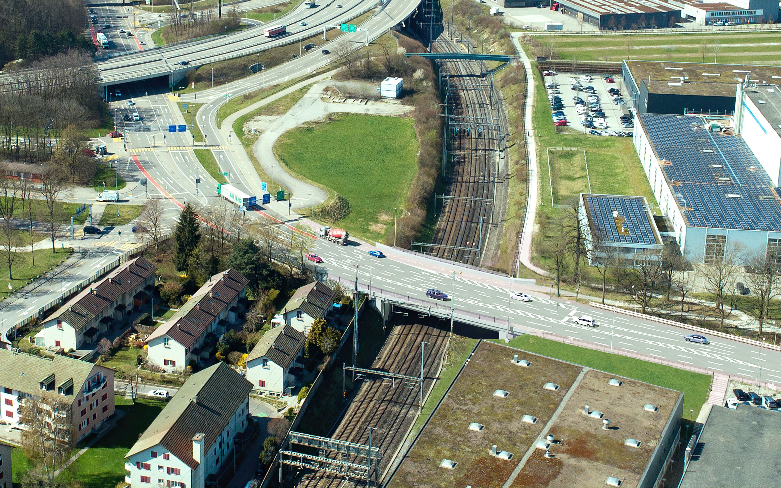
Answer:
<svg viewBox="0 0 781 488"><path fill-rule="evenodd" d="M688 225L781 231L781 193L742 137L700 117L638 116Z"/></svg>

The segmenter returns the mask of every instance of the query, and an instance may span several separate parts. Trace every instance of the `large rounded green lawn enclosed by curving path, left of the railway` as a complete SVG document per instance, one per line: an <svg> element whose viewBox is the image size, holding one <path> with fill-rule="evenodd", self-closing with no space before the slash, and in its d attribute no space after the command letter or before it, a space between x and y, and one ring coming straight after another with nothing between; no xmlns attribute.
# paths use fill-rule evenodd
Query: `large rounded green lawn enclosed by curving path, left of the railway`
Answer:
<svg viewBox="0 0 781 488"><path fill-rule="evenodd" d="M412 119L339 114L283 134L274 151L294 173L350 201L350 214L336 225L383 240L393 231L394 207L406 201L418 143Z"/></svg>

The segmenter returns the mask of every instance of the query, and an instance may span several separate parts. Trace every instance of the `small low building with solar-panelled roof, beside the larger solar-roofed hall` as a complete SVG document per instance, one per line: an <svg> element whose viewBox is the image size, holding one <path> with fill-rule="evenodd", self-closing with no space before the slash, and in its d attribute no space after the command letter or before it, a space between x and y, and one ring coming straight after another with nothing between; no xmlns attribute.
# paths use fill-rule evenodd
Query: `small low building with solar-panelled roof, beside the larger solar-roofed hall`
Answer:
<svg viewBox="0 0 781 488"><path fill-rule="evenodd" d="M582 193L578 216L590 265L606 258L630 266L662 259L662 236L645 197Z"/></svg>

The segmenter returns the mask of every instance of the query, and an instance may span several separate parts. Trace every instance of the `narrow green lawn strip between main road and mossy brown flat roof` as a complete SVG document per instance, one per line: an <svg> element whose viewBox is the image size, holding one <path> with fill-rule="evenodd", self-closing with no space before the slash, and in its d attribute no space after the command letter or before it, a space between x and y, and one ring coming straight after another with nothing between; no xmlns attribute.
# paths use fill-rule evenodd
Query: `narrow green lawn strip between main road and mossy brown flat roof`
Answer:
<svg viewBox="0 0 781 488"><path fill-rule="evenodd" d="M504 340L494 340L494 342L505 344ZM702 405L708 400L708 388L711 386L711 376L708 375L529 335L516 337L509 345L550 358L682 391L683 411L688 414L689 410L694 410L695 419ZM689 415L685 416L688 418Z"/></svg>

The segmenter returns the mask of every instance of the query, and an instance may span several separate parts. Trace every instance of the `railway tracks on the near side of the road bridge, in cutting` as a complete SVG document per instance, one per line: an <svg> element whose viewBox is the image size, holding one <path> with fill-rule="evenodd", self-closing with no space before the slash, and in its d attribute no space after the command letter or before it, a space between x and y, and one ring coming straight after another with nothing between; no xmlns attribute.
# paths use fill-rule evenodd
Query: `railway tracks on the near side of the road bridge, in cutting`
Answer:
<svg viewBox="0 0 781 488"><path fill-rule="evenodd" d="M372 369L420 376L421 342L426 341L423 374L424 392L430 388L440 364L447 332L430 326L397 326L387 341ZM341 423L331 437L353 443L369 443L369 426L375 427L372 445L380 449L381 476L399 443L404 440L408 426L414 420L410 415L418 406L419 390L405 383L388 379L368 379L362 383ZM331 453L333 454L333 453ZM347 461L352 461L348 459ZM305 474L299 487L330 488L335 486L364 486L364 480L344 479L327 472Z"/></svg>

